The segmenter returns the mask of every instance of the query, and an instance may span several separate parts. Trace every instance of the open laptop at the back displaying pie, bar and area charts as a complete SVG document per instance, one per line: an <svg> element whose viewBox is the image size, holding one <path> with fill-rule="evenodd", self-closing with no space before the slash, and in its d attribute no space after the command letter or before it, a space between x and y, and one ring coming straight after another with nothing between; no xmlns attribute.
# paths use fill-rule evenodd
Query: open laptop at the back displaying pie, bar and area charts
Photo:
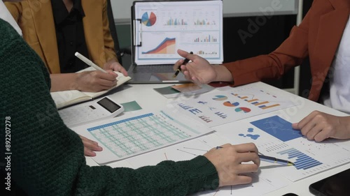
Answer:
<svg viewBox="0 0 350 196"><path fill-rule="evenodd" d="M223 1L134 1L128 83L185 83L173 66L177 50L223 63Z"/></svg>

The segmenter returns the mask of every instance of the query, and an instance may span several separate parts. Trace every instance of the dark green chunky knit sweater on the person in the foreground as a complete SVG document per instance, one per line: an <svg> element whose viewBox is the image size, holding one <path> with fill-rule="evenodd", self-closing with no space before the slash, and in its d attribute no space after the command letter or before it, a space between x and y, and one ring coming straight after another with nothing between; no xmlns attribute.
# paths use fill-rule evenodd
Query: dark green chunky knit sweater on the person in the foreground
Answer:
<svg viewBox="0 0 350 196"><path fill-rule="evenodd" d="M83 143L64 125L50 97L50 77L43 62L3 20L0 80L0 163L10 164L6 167L10 171L1 170L6 176L10 172L10 182L27 195L164 196L218 187L216 169L204 156L139 169L87 166Z"/></svg>

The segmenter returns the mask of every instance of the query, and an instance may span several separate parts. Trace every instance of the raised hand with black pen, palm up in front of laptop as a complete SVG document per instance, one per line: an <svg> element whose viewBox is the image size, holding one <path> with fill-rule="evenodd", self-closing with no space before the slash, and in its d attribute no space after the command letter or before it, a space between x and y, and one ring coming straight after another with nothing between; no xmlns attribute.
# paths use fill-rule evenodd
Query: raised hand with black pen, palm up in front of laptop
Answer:
<svg viewBox="0 0 350 196"><path fill-rule="evenodd" d="M183 59L176 61L174 64L174 70L181 66L181 71L185 75L186 80L196 84L208 84L216 80L216 70L206 59L183 50L178 50L177 52L180 56L190 60L190 63L187 63L186 66L182 65Z"/></svg>

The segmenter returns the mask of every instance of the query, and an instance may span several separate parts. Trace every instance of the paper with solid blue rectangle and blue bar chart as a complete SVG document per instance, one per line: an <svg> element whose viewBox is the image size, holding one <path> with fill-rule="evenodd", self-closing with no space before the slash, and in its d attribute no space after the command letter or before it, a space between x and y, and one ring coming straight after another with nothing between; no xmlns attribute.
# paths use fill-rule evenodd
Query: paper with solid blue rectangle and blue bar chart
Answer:
<svg viewBox="0 0 350 196"><path fill-rule="evenodd" d="M270 171L279 173L290 181L298 181L350 162L350 141L307 140L299 130L293 130L290 122L279 116L269 116L249 123L240 121L231 126L235 129L220 130L216 134L229 138L232 143L254 142L260 153L295 163L289 167L275 167Z"/></svg>

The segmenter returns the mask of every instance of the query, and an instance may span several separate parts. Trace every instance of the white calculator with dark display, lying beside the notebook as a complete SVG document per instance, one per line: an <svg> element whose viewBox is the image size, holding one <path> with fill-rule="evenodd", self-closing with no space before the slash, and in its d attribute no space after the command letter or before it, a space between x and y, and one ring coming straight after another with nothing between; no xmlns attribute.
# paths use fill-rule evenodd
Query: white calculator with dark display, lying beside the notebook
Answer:
<svg viewBox="0 0 350 196"><path fill-rule="evenodd" d="M69 127L113 118L121 112L124 112L123 105L114 102L109 97L58 110L59 116L61 116L66 126Z"/></svg>

